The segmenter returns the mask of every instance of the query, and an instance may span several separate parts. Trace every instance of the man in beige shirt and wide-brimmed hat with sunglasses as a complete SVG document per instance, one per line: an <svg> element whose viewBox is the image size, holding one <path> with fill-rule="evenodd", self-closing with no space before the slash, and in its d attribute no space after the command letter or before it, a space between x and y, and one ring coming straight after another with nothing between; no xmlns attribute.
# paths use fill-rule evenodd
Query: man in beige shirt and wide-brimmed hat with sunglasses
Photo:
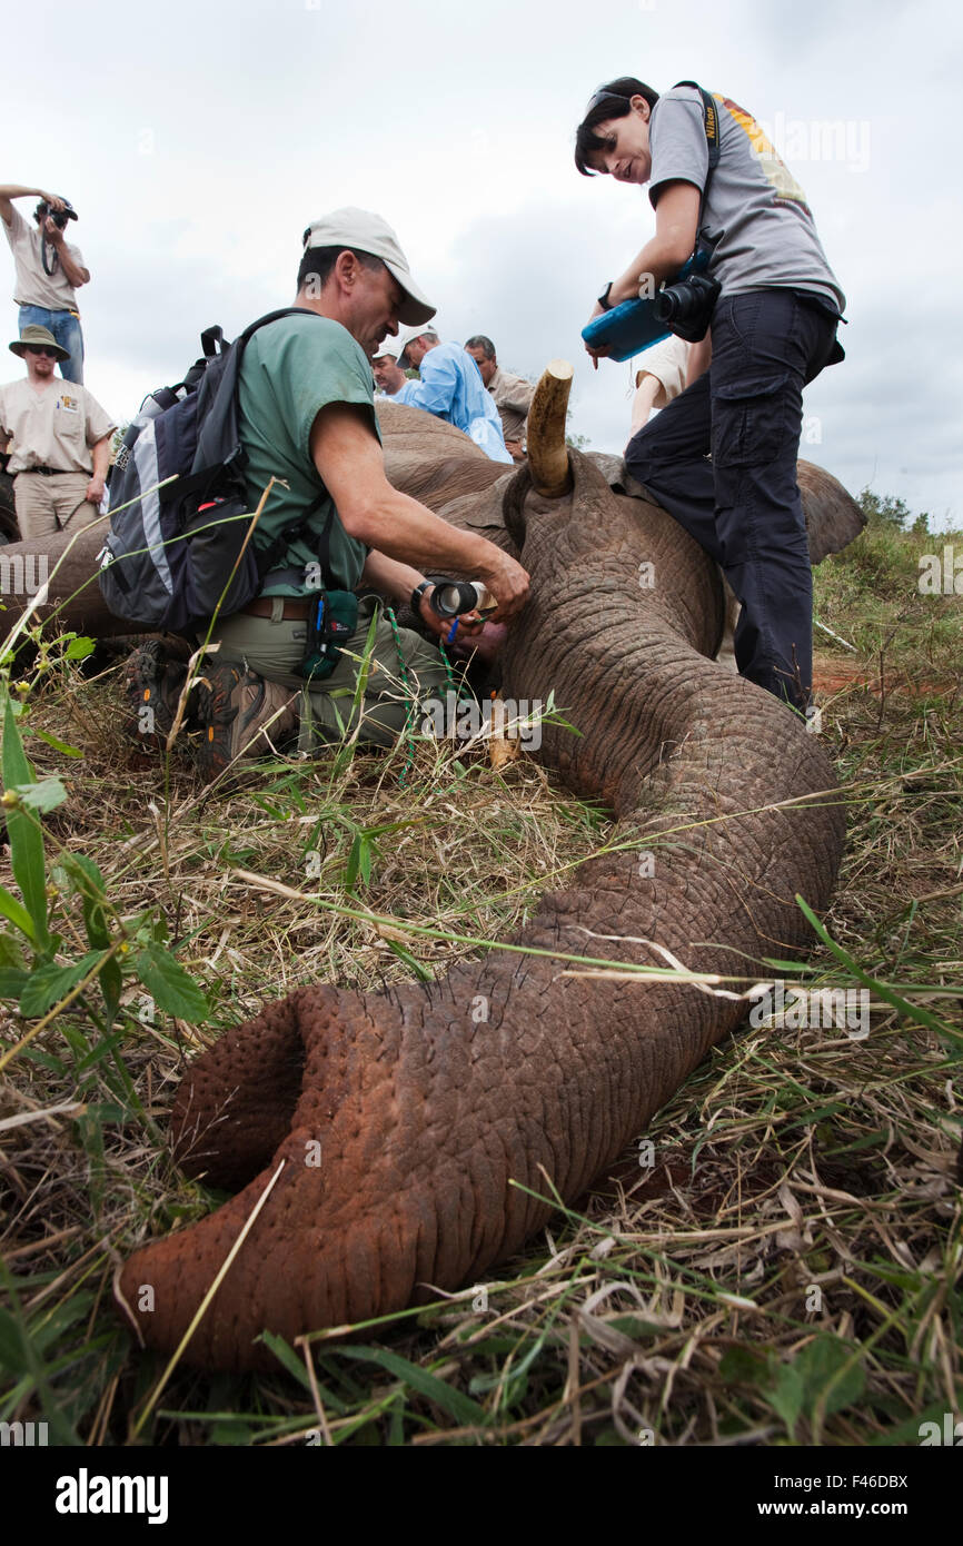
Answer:
<svg viewBox="0 0 963 1546"><path fill-rule="evenodd" d="M0 441L9 442L26 543L97 518L116 425L85 386L57 380L66 349L46 328L25 328L11 351L26 360L26 377L0 386Z"/></svg>

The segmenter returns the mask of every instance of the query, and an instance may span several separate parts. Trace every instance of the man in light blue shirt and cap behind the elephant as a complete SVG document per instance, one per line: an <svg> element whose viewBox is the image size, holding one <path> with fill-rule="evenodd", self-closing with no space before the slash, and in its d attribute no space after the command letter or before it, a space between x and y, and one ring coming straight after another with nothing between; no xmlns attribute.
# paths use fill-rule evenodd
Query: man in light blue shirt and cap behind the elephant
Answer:
<svg viewBox="0 0 963 1546"><path fill-rule="evenodd" d="M425 408L470 434L493 462L512 467L495 399L485 391L478 365L458 343L442 343L434 328L419 318L399 334L399 365L414 365L420 380L405 394L413 408Z"/></svg>

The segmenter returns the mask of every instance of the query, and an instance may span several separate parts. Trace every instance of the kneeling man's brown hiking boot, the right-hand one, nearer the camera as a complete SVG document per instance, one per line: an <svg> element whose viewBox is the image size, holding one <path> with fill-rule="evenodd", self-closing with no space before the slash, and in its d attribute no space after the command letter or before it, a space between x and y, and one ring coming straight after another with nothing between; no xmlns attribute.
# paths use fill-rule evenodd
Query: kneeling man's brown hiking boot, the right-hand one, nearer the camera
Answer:
<svg viewBox="0 0 963 1546"><path fill-rule="evenodd" d="M233 662L212 662L198 677L198 762L207 784L236 758L269 756L300 724L297 688L266 682Z"/></svg>

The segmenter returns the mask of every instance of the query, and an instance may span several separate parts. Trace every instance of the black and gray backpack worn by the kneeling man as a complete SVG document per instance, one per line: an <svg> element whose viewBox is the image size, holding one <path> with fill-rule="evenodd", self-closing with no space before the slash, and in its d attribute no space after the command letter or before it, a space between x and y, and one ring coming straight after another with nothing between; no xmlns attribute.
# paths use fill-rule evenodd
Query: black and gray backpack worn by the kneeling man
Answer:
<svg viewBox="0 0 963 1546"><path fill-rule="evenodd" d="M250 541L238 563L252 515L238 416L241 360L258 328L292 315L315 312L272 311L233 343L224 343L221 328L207 328L204 354L184 380L141 404L111 467L108 509L116 515L99 553L100 594L114 617L176 634L207 625L215 612L238 612L322 504L325 495L269 547L255 550ZM175 481L156 487L168 478Z"/></svg>

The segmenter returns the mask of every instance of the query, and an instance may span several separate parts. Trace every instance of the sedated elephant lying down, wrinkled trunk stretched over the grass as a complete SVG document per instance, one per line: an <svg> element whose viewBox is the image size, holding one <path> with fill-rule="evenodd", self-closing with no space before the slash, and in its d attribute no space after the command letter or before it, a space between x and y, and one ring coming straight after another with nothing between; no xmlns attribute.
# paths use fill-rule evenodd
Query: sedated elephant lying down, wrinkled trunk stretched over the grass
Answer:
<svg viewBox="0 0 963 1546"><path fill-rule="evenodd" d="M271 1184L187 1345L196 1367L272 1367L264 1328L291 1340L479 1280L546 1223L539 1197L578 1198L740 1022L744 1003L705 976L771 976L764 957L808 942L796 894L829 903L844 841L833 770L788 710L711 659L723 598L709 560L566 455L564 374L543 377L529 467L505 475L451 427L390 407L388 473L529 569L505 694L555 690L583 734L546 725L543 761L637 846L543 897L513 942L533 954L493 951L390 994L303 988L198 1057L175 1099L175 1152L236 1195L136 1251L117 1283L142 1342L170 1353ZM818 468L801 484L824 527L815 546L835 550L859 529L853 501ZM77 544L71 589L97 544ZM66 617L111 628L96 595ZM705 976L572 976L570 955Z"/></svg>

